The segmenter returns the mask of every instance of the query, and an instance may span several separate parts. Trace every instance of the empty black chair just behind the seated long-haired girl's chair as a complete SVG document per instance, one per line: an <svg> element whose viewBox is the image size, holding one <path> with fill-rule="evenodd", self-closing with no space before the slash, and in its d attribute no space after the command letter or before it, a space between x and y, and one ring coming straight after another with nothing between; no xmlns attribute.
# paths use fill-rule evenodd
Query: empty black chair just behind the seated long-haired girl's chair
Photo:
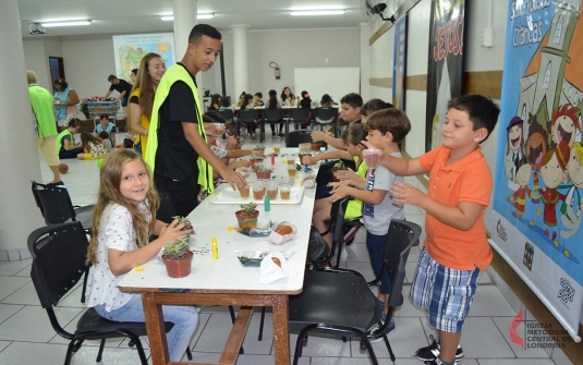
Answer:
<svg viewBox="0 0 583 365"><path fill-rule="evenodd" d="M71 197L65 187L33 183L33 195L40 214L45 218L45 223L59 224L68 220L80 221L83 229L88 231L92 228L93 209L95 205L84 207L73 206Z"/></svg>

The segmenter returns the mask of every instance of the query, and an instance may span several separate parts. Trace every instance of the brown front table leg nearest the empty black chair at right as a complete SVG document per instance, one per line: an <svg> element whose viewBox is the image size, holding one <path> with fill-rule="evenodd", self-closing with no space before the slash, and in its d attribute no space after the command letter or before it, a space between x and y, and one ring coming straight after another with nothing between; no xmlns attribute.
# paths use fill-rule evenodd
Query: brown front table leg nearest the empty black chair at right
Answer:
<svg viewBox="0 0 583 365"><path fill-rule="evenodd" d="M288 295L274 299L274 346L276 365L290 365L290 316Z"/></svg>

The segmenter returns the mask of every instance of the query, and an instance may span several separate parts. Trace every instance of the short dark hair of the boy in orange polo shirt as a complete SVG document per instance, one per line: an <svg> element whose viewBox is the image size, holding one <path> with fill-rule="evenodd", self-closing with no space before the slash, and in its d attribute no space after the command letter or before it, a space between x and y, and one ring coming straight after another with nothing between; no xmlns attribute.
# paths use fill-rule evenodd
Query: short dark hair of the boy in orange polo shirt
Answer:
<svg viewBox="0 0 583 365"><path fill-rule="evenodd" d="M474 124L472 131L477 131L482 127L488 131L488 135L482 142L488 139L490 136L491 131L494 131L498 122L498 114L500 113L500 108L491 98L478 94L464 95L449 100L448 110L451 108L467 114L470 121Z"/></svg>

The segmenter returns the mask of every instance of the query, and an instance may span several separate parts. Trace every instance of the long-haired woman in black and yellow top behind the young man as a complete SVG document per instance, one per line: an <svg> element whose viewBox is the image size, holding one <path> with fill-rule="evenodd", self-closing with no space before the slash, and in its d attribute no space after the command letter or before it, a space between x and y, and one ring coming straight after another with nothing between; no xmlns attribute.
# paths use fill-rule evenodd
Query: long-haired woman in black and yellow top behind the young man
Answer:
<svg viewBox="0 0 583 365"><path fill-rule="evenodd" d="M166 72L166 63L158 53L147 53L139 62L137 76L130 95L130 126L137 136L134 148L146 156L148 144L149 119L154 108L154 96Z"/></svg>

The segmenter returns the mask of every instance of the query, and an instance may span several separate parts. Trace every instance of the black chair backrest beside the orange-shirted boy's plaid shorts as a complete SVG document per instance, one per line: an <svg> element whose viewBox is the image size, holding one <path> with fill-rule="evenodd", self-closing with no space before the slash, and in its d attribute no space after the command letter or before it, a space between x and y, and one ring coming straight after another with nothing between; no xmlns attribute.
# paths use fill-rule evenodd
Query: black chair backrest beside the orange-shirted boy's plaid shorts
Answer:
<svg viewBox="0 0 583 365"><path fill-rule="evenodd" d="M389 297L391 307L399 306L403 302L401 291L405 278L405 263L411 247L418 244L420 236L418 224L399 219L391 220L382 252L382 267L392 281Z"/></svg>

